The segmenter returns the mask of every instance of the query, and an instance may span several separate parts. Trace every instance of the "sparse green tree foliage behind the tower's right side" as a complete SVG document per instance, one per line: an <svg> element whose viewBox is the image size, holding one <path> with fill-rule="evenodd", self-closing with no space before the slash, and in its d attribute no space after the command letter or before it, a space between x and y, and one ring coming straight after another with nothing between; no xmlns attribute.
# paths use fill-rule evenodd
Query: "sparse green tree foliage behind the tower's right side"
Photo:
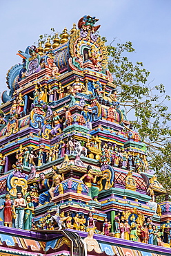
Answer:
<svg viewBox="0 0 171 256"><path fill-rule="evenodd" d="M132 112L132 116L135 116L132 125L147 146L150 168L157 173L158 180L168 192L171 192L171 113L168 113L165 105L170 96L165 95L163 84L148 84L150 72L145 70L142 62L135 65L130 62L128 56L134 51L131 42L117 44L115 47L110 44L108 68L114 77L121 106L128 116Z"/></svg>

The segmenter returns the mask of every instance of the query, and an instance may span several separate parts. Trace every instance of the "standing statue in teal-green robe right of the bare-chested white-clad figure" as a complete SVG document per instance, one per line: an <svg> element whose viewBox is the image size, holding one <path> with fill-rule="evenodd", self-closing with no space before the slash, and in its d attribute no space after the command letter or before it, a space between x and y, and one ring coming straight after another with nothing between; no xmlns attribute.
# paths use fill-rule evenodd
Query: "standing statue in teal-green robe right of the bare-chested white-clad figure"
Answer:
<svg viewBox="0 0 171 256"><path fill-rule="evenodd" d="M32 197L30 194L26 197L26 208L24 209L24 229L31 230L32 229L32 212L34 211L34 205L32 203Z"/></svg>

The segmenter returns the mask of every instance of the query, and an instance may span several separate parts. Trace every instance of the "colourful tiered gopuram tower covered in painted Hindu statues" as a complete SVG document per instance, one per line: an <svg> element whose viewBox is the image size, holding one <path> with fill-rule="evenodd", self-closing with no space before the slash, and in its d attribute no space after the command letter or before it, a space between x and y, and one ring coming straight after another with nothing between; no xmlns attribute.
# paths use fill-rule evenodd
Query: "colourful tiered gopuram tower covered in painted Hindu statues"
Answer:
<svg viewBox="0 0 171 256"><path fill-rule="evenodd" d="M171 203L108 71L98 19L19 51L0 106L0 255L171 255Z"/></svg>

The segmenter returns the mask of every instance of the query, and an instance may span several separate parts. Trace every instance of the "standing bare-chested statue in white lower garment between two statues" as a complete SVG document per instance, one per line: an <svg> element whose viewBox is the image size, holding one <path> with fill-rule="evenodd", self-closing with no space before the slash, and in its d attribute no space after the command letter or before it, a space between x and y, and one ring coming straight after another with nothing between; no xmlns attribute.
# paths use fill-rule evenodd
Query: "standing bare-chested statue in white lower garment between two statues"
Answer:
<svg viewBox="0 0 171 256"><path fill-rule="evenodd" d="M14 222L15 228L23 228L24 208L26 208L26 202L23 199L22 192L17 192L17 199L14 199L14 208L16 213L16 219Z"/></svg>

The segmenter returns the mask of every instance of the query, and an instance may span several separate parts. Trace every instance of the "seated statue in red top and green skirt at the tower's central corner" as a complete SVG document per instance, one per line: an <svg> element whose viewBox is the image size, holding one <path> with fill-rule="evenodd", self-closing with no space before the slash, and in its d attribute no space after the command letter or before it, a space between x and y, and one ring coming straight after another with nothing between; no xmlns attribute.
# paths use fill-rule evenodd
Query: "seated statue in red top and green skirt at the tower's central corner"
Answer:
<svg viewBox="0 0 171 256"><path fill-rule="evenodd" d="M97 201L99 188L94 185L97 183L97 175L92 174L92 167L90 165L88 165L87 170L88 173L84 174L80 180L84 181L84 183L88 186L88 195L91 196L94 201Z"/></svg>

